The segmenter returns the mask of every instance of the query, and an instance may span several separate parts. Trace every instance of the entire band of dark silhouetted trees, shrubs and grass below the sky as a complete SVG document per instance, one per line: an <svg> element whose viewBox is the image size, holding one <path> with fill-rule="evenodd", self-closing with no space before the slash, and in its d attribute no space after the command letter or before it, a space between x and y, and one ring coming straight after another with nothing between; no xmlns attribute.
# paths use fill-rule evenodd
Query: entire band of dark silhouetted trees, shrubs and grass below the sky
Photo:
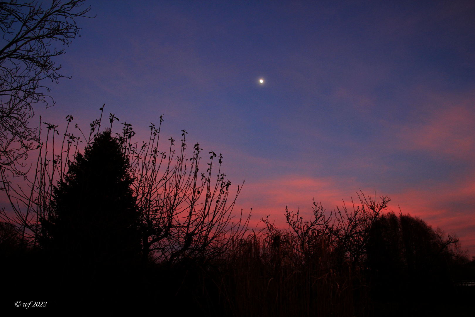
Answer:
<svg viewBox="0 0 475 317"><path fill-rule="evenodd" d="M221 155L209 152L202 167L195 144L187 158L185 131L161 152L160 125L139 144L127 123L111 132L112 114L80 137L66 119L61 135L43 124L32 174L1 172L11 202L0 225L2 309L33 300L73 315L474 314L475 261L455 236L387 211L388 197L360 193L333 212L314 202L308 220L285 209L287 229L267 217L248 230L250 214L233 213L242 186L230 193Z"/></svg>

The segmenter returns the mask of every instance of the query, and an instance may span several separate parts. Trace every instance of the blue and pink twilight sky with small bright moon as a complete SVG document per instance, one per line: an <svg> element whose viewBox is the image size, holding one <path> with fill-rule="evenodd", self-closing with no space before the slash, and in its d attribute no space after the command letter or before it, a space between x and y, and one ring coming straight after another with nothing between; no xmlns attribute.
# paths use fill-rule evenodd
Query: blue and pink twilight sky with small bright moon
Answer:
<svg viewBox="0 0 475 317"><path fill-rule="evenodd" d="M87 4L42 121L87 127L105 104L145 139L164 115L245 181L252 225L376 190L475 255L473 1Z"/></svg>

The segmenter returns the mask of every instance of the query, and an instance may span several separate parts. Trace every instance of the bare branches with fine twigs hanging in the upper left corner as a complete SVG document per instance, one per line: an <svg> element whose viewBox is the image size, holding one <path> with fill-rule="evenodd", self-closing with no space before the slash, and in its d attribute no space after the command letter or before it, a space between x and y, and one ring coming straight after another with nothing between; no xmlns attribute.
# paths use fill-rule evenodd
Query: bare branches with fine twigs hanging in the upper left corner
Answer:
<svg viewBox="0 0 475 317"><path fill-rule="evenodd" d="M64 54L79 34L76 18L86 17L90 7L81 8L85 0L62 3L0 2L0 168L23 174L19 160L37 141L37 129L28 126L33 104L54 104L43 79L56 82L61 77L52 58Z"/></svg>

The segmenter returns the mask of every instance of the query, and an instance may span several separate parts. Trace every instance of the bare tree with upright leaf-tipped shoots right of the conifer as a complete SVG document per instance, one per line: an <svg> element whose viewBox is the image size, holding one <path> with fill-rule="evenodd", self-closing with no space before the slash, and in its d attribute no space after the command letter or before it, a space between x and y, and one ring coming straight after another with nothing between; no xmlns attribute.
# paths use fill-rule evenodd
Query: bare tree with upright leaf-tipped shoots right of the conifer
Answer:
<svg viewBox="0 0 475 317"><path fill-rule="evenodd" d="M168 151L160 152L161 125L150 125L150 138L142 145L131 141L135 134L132 126L123 125L123 151L131 162L132 187L141 213L142 260L153 257L170 265L181 259L219 257L229 241L243 234L250 216L243 219L242 211L238 218L232 214L242 186L229 196L231 182L222 173L222 155L209 152L203 173L199 170L199 144L194 145L190 158L185 155L185 130L180 150L174 149L175 140L170 137ZM213 176L216 159L218 173Z"/></svg>

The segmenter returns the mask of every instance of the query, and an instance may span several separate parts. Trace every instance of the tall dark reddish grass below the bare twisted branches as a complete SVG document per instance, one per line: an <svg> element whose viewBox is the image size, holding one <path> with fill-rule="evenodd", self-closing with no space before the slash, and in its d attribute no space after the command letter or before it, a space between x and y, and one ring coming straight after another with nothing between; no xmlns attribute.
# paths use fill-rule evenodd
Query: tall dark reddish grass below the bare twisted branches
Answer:
<svg viewBox="0 0 475 317"><path fill-rule="evenodd" d="M222 282L231 316L366 315L367 288L353 281L361 276L346 263L332 265L328 240L319 238L304 257L299 242L288 231L236 241Z"/></svg>

